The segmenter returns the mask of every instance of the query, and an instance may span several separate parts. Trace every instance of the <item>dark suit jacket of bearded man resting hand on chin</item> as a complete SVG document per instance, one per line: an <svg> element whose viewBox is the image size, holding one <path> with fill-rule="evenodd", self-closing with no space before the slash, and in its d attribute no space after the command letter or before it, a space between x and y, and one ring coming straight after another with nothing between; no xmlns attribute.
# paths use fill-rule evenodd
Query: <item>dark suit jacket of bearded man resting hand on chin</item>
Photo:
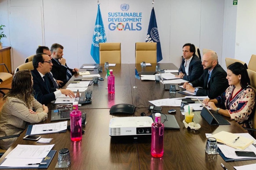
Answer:
<svg viewBox="0 0 256 170"><path fill-rule="evenodd" d="M68 68L67 64L65 64L67 68L64 67L63 65L60 65L58 62L55 61L55 59L52 59L52 63L53 63L53 68L51 72L53 73L53 77L56 80L63 81L63 84L62 84L62 87L63 87L67 82L67 73L66 73L67 69L72 73L72 75L74 74L73 69Z"/></svg>

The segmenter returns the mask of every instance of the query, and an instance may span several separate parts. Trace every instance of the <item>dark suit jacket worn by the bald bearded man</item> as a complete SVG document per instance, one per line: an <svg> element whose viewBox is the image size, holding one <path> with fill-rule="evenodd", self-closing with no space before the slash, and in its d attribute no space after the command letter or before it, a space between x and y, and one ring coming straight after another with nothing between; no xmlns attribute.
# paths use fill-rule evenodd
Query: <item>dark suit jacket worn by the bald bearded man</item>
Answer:
<svg viewBox="0 0 256 170"><path fill-rule="evenodd" d="M193 87L202 87L198 89L196 96L208 96L210 99L214 99L220 96L229 87L228 80L226 79L227 73L223 68L217 64L211 74L210 81L207 87L208 70L204 70L199 79L192 81Z"/></svg>

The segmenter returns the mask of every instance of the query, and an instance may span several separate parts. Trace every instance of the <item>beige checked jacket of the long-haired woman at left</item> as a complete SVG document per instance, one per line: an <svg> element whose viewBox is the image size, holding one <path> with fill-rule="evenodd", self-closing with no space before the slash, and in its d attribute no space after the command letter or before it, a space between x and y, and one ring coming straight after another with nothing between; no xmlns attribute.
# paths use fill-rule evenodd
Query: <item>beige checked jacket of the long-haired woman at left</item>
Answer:
<svg viewBox="0 0 256 170"><path fill-rule="evenodd" d="M37 114L31 114L33 109ZM43 106L33 99L31 107L15 97L7 97L0 113L0 137L22 133L30 123L39 123L47 119L47 113L43 112ZM0 147L8 149L17 137L0 140Z"/></svg>

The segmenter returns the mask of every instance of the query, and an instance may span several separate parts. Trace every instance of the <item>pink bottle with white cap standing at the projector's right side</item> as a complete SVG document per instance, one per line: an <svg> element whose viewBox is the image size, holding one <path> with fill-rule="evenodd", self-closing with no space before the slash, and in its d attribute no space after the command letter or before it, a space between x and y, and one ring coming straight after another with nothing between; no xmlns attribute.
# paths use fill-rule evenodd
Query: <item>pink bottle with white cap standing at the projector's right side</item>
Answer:
<svg viewBox="0 0 256 170"><path fill-rule="evenodd" d="M161 158L164 154L164 124L161 123L161 114L155 114L155 122L152 123L151 155Z"/></svg>

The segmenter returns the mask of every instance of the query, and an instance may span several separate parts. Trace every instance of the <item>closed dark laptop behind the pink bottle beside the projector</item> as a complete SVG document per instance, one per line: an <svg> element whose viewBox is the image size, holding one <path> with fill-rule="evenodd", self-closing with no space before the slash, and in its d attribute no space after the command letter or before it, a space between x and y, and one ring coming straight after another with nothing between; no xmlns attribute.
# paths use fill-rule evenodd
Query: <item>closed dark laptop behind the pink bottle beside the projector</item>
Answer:
<svg viewBox="0 0 256 170"><path fill-rule="evenodd" d="M166 117L165 117L166 115ZM174 115L161 114L161 123L164 124L165 129L180 129L180 126ZM155 113L152 114L153 121L155 122ZM166 119L167 118L167 119Z"/></svg>

